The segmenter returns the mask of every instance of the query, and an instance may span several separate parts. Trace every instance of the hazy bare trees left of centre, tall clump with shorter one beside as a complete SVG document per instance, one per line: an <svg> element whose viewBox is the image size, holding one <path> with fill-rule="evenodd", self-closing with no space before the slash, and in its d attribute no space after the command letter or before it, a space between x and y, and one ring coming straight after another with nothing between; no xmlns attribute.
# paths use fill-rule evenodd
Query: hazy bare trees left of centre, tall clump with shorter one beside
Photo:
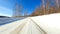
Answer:
<svg viewBox="0 0 60 34"><path fill-rule="evenodd" d="M27 10L24 11L24 15L22 14L22 4L15 3L15 8L13 11L13 17L26 17L28 16Z"/></svg>

